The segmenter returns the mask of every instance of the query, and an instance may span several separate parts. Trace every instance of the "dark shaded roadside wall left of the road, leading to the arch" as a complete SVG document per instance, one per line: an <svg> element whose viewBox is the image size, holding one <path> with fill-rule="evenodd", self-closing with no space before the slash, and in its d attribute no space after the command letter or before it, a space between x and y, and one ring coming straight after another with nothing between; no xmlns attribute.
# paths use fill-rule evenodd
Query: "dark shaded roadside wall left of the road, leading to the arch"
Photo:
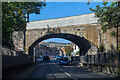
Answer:
<svg viewBox="0 0 120 80"><path fill-rule="evenodd" d="M10 49L2 48L2 68L10 69L19 67L33 62L33 57L23 52L16 52Z"/></svg>

